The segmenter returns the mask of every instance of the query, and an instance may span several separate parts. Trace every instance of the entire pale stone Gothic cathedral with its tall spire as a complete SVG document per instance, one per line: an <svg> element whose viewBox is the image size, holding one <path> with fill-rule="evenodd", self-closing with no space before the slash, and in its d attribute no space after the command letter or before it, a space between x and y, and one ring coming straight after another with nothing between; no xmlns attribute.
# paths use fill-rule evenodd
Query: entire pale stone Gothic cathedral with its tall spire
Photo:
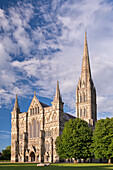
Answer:
<svg viewBox="0 0 113 170"><path fill-rule="evenodd" d="M28 111L22 113L16 95L11 112L12 162L59 162L55 140L62 134L65 122L76 117L64 112L58 81L51 104L52 106L48 106L40 102L34 92ZM86 33L81 77L76 87L76 116L95 127L96 90L91 76Z"/></svg>

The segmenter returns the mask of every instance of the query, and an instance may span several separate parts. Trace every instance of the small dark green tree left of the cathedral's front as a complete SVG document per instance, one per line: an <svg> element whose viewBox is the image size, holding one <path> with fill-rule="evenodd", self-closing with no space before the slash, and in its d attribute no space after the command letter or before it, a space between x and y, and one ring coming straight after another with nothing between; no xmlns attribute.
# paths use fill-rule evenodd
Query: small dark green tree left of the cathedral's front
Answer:
<svg viewBox="0 0 113 170"><path fill-rule="evenodd" d="M6 149L2 150L2 160L10 160L11 159L11 146L7 146Z"/></svg>

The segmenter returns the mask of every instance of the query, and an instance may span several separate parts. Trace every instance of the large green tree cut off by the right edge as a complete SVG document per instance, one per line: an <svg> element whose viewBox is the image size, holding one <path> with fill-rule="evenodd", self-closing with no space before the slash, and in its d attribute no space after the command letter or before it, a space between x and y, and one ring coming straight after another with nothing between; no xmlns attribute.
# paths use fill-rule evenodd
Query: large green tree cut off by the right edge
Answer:
<svg viewBox="0 0 113 170"><path fill-rule="evenodd" d="M92 152L96 158L113 158L113 118L100 119L93 132Z"/></svg>

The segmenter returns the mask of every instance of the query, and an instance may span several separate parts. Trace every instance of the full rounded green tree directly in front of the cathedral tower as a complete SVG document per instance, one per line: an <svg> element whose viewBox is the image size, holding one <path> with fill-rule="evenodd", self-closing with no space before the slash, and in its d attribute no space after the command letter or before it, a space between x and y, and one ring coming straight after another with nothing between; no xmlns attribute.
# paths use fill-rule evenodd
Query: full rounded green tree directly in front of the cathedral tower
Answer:
<svg viewBox="0 0 113 170"><path fill-rule="evenodd" d="M56 139L56 151L60 158L86 159L91 156L92 129L81 119L65 123L63 134Z"/></svg>

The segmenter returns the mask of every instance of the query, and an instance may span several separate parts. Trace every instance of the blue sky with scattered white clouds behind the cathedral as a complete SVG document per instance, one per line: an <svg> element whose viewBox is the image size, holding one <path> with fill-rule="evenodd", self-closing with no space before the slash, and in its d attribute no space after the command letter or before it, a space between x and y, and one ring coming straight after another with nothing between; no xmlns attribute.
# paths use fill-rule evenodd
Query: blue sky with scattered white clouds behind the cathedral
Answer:
<svg viewBox="0 0 113 170"><path fill-rule="evenodd" d="M98 119L113 116L113 1L0 0L0 150L10 145L11 114L37 98L50 104L56 82L65 111L75 115L75 91L87 30Z"/></svg>

